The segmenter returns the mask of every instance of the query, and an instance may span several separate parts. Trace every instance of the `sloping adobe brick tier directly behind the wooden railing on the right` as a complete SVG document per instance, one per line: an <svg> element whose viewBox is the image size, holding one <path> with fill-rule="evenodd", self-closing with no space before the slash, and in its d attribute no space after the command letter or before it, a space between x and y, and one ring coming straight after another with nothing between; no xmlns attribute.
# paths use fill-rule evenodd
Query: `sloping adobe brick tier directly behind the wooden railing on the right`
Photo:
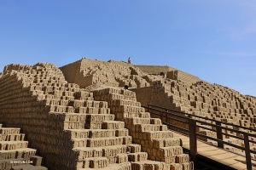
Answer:
<svg viewBox="0 0 256 170"><path fill-rule="evenodd" d="M145 88L146 90L146 88ZM208 82L196 82L188 85L180 80L162 80L154 83L154 87L132 89L137 93L137 99L143 105L160 105L172 110L185 111L192 115L204 116L221 122L231 122L243 127L255 128L256 100L253 97ZM187 125L172 121L180 127ZM231 127L233 128L233 127ZM234 127L235 128L235 127ZM200 133L216 138L215 132L198 129ZM252 133L252 132L249 132ZM235 135L240 135L236 134ZM207 140L207 139L204 139ZM224 140L232 144L241 144L238 139L224 136ZM226 149L239 151L232 147ZM251 147L254 147L253 144Z"/></svg>

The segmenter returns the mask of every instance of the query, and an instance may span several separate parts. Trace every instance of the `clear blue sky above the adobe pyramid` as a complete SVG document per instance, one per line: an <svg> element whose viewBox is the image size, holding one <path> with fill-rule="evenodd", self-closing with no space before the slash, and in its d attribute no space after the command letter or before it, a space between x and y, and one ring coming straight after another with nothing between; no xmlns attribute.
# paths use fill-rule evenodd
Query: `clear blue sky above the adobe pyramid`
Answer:
<svg viewBox="0 0 256 170"><path fill-rule="evenodd" d="M170 65L256 96L254 0L1 0L4 65Z"/></svg>

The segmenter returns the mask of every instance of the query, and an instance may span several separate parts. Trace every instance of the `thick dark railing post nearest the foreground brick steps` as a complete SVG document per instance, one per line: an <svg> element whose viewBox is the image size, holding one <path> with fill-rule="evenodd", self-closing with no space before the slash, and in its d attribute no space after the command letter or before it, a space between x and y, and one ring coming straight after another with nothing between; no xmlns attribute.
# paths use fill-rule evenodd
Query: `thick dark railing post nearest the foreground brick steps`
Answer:
<svg viewBox="0 0 256 170"><path fill-rule="evenodd" d="M196 155L197 155L197 144L196 144L196 122L194 119L189 119L189 154L191 161L194 161L196 167Z"/></svg>

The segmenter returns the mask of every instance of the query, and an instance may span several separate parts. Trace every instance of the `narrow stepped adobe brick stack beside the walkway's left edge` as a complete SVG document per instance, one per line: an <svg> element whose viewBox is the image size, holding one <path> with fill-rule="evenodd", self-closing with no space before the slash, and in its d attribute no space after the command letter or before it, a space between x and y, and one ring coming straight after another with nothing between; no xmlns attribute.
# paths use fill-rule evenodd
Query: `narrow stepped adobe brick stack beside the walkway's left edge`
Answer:
<svg viewBox="0 0 256 170"><path fill-rule="evenodd" d="M108 101L116 118L125 122L132 141L141 144L142 150L148 153L148 159L164 161L171 169L193 169L189 155L183 154L180 139L173 138L172 132L167 130L166 125L162 125L160 119L151 118L144 111L134 92L105 88L93 93L96 100Z"/></svg>

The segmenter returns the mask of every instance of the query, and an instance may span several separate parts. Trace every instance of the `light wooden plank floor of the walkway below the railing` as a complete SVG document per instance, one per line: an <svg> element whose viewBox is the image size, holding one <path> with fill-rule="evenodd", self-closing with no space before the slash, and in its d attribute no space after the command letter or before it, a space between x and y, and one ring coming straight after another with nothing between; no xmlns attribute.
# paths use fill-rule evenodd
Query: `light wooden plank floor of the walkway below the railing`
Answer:
<svg viewBox="0 0 256 170"><path fill-rule="evenodd" d="M189 150L189 137L173 132L175 138L182 139L183 149ZM246 157L235 154L228 150L220 149L212 144L207 144L197 140L197 160L198 164L211 169L238 169L246 170ZM253 169L256 170L256 161L252 160Z"/></svg>

